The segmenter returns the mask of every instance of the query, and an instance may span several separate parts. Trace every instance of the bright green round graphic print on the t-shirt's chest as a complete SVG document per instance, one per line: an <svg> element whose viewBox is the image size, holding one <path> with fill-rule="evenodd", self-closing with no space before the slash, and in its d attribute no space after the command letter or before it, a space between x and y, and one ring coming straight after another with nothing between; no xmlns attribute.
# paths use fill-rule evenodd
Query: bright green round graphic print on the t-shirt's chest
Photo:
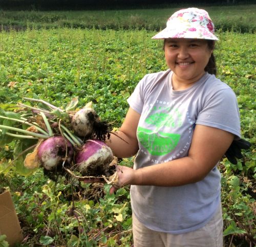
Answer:
<svg viewBox="0 0 256 247"><path fill-rule="evenodd" d="M181 126L181 114L177 109L169 110L167 113L161 111L145 119L145 123L155 126L155 130L138 127L137 136L141 145L152 155L160 156L170 153L175 149L180 134L159 131L161 127L173 129Z"/></svg>

